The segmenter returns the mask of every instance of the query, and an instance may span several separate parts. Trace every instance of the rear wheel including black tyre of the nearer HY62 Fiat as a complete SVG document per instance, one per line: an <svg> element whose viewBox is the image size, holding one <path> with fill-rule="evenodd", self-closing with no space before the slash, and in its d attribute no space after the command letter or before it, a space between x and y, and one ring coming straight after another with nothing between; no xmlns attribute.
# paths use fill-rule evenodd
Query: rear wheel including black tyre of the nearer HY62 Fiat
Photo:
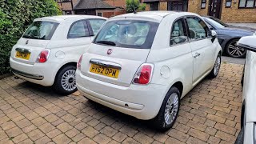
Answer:
<svg viewBox="0 0 256 144"><path fill-rule="evenodd" d="M163 99L158 115L153 119L154 128L160 131L166 131L174 125L178 117L180 97L178 88L171 87Z"/></svg>

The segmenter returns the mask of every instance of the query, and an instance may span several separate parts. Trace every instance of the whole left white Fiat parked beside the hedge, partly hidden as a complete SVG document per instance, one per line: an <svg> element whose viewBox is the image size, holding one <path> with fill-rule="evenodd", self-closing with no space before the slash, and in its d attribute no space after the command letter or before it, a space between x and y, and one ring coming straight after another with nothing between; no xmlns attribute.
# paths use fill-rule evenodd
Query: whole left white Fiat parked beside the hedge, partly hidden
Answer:
<svg viewBox="0 0 256 144"><path fill-rule="evenodd" d="M76 63L106 18L87 15L36 18L10 54L14 75L60 94L76 88Z"/></svg>

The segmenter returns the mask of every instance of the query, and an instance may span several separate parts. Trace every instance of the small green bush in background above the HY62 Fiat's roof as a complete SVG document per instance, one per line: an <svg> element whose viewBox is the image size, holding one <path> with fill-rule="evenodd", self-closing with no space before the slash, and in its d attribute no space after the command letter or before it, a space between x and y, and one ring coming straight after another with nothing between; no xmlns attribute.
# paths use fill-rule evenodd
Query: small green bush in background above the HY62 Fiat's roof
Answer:
<svg viewBox="0 0 256 144"><path fill-rule="evenodd" d="M146 9L145 3L140 3L139 0L126 0L126 12L132 13L135 10L144 11Z"/></svg>

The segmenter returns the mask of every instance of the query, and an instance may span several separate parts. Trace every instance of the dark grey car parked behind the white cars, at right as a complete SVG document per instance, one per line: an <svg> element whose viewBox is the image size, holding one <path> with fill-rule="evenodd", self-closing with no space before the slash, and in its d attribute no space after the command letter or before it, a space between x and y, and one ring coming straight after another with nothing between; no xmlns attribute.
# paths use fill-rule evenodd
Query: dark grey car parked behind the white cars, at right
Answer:
<svg viewBox="0 0 256 144"><path fill-rule="evenodd" d="M211 30L216 31L218 42L222 46L222 50L228 56L233 58L246 57L246 50L239 48L237 46L237 42L239 38L252 35L255 29L242 26L231 26L222 22L218 18L210 16L202 18L204 18Z"/></svg>

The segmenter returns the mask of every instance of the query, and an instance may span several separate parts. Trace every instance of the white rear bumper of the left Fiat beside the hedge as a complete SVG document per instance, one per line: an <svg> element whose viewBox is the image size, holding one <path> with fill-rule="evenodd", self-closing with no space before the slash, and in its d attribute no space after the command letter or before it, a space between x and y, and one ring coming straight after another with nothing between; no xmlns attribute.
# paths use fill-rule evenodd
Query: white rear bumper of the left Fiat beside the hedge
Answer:
<svg viewBox="0 0 256 144"><path fill-rule="evenodd" d="M10 58L10 67L14 75L26 81L37 83L42 86L52 86L58 68L56 63L34 63L26 64Z"/></svg>

